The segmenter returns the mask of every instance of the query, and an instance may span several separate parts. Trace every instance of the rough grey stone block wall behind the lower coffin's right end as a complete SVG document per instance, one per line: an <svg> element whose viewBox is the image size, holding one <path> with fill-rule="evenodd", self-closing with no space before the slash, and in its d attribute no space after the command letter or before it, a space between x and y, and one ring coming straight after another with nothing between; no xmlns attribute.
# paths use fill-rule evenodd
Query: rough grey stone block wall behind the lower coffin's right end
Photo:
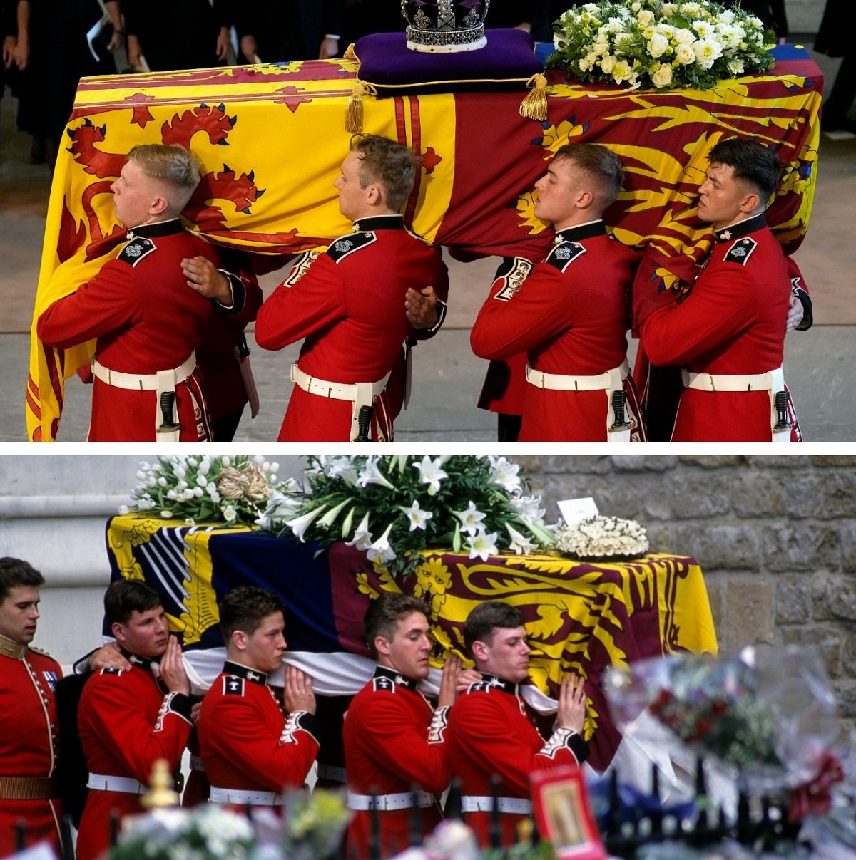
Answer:
<svg viewBox="0 0 856 860"><path fill-rule="evenodd" d="M817 645L856 727L856 457L514 459L546 501L593 496L696 558L723 650Z"/></svg>

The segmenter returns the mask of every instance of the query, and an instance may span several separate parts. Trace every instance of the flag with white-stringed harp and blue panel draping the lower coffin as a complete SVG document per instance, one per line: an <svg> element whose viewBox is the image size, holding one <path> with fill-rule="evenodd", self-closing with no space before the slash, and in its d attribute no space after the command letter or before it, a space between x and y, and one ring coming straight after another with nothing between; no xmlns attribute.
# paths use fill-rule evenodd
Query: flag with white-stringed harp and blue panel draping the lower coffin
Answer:
<svg viewBox="0 0 856 860"><path fill-rule="evenodd" d="M684 556L652 554L624 563L493 556L481 562L434 550L423 553L416 573L400 582L345 544L319 553L317 544L258 531L170 525L139 514L111 519L107 546L114 580L142 579L163 595L190 665L208 675L208 684L222 665L221 655L220 664L205 662L206 652L223 644L216 601L238 585L281 595L289 653L320 654L312 672L316 678L337 672L339 695L353 695L366 679L348 677L347 669L343 675L341 660L334 658L343 652L369 656L363 616L381 592L405 591L425 600L437 668L450 653L464 656L463 622L476 604L502 599L517 605L533 648L530 678L537 689L555 696L564 673L586 679L586 733L593 739L592 766L599 770L621 740L600 685L605 669L677 651L716 653L701 569Z"/></svg>

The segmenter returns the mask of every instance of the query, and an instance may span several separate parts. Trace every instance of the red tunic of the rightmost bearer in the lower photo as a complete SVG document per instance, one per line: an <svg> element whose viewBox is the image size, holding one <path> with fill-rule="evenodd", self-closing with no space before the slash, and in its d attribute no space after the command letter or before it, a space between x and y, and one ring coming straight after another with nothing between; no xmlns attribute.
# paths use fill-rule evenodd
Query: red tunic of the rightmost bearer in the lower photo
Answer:
<svg viewBox="0 0 856 860"><path fill-rule="evenodd" d="M492 777L498 777L499 797L528 800L532 771L579 764L588 755L586 741L568 728L557 728L545 743L530 722L519 685L487 673L452 705L448 734L452 774L462 799L493 796ZM492 815L464 812L482 846L489 845ZM501 814L503 845L518 841L517 826L524 817Z"/></svg>

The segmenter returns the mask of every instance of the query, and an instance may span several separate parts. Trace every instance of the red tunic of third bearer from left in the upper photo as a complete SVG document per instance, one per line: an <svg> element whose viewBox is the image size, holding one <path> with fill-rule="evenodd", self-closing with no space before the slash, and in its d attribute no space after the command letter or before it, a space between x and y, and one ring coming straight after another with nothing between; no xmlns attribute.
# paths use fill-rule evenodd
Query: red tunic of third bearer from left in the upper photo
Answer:
<svg viewBox="0 0 856 860"><path fill-rule="evenodd" d="M537 371L597 376L626 357L626 295L638 255L613 241L602 221L560 230L555 242L535 267L521 258L500 267L470 343L484 359L525 351ZM608 408L605 390L525 384L520 441L604 442Z"/></svg>

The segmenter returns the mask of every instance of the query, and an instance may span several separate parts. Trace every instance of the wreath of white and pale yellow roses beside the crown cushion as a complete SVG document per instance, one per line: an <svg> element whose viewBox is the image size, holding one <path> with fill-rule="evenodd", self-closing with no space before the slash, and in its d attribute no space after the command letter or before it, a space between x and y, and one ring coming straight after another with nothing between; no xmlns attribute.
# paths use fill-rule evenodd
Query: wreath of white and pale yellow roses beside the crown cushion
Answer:
<svg viewBox="0 0 856 860"><path fill-rule="evenodd" d="M710 89L773 64L775 35L760 18L709 0L600 0L568 9L553 29L547 66L580 83Z"/></svg>

